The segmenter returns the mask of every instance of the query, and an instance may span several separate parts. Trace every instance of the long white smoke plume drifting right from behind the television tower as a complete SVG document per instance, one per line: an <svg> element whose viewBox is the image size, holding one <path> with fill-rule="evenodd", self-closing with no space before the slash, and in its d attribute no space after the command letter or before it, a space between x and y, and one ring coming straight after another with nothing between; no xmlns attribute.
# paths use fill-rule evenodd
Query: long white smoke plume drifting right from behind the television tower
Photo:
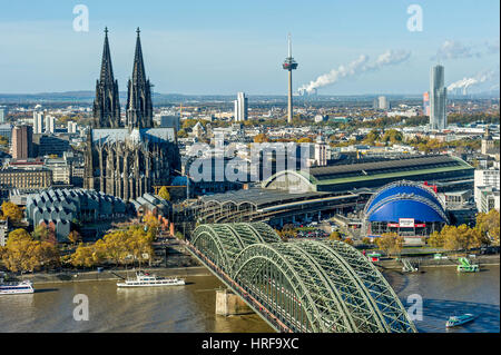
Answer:
<svg viewBox="0 0 501 355"><path fill-rule="evenodd" d="M326 87L337 82L340 79L354 77L366 71L380 70L385 66L397 65L407 60L411 57L410 51L400 50L393 51L387 50L380 55L375 62L369 63L369 56L362 55L357 59L353 60L346 66L340 66L336 69L331 70L316 78L310 83L303 85L298 91L306 90L308 93L313 92L317 88Z"/></svg>

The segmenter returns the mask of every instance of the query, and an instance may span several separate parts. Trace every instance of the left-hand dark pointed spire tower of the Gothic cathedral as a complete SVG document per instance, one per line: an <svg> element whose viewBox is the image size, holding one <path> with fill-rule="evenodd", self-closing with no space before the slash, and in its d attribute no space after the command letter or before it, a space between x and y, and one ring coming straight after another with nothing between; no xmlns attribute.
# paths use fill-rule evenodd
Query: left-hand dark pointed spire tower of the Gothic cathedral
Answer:
<svg viewBox="0 0 501 355"><path fill-rule="evenodd" d="M96 99L94 100L94 119L91 126L92 128L122 127L120 121L118 81L114 78L114 68L111 67L108 28L105 29L101 73L96 82Z"/></svg>

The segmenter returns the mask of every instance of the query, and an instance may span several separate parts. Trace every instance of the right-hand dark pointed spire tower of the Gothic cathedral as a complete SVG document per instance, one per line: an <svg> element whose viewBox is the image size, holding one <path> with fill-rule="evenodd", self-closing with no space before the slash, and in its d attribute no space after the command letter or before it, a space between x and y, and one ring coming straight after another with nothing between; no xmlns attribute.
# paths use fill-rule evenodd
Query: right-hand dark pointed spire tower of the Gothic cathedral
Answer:
<svg viewBox="0 0 501 355"><path fill-rule="evenodd" d="M134 56L132 78L128 82L127 91L127 124L129 130L134 128L153 128L151 85L146 79L143 61L141 41L137 29L136 53Z"/></svg>

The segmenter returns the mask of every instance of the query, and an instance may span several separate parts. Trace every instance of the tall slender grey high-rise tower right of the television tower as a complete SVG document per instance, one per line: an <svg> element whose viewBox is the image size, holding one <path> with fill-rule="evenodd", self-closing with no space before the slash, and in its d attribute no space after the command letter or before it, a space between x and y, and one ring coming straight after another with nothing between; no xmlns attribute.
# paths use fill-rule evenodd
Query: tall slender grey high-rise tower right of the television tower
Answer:
<svg viewBox="0 0 501 355"><path fill-rule="evenodd" d="M434 66L430 76L430 128L444 129L448 126L446 95L443 66Z"/></svg>

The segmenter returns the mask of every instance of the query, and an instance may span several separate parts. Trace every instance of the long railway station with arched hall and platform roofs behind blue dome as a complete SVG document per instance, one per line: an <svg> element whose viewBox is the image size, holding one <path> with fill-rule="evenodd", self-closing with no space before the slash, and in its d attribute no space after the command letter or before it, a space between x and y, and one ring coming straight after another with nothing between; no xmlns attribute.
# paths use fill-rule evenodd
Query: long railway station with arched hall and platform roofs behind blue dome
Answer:
<svg viewBox="0 0 501 355"><path fill-rule="evenodd" d="M283 170L258 187L200 197L198 223L266 221L272 226L362 211L373 194L402 179L440 191L473 187L473 170L451 156L418 156L377 162Z"/></svg>

